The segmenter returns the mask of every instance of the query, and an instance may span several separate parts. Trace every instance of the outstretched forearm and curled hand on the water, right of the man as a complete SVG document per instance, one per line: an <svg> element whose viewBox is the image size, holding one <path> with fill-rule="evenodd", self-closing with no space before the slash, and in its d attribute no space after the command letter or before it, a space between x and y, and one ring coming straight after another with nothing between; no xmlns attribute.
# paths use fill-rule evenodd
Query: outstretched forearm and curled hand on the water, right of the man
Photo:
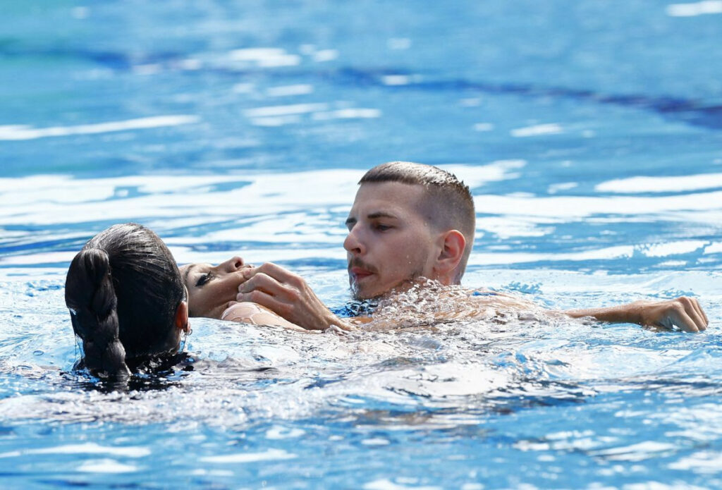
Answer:
<svg viewBox="0 0 722 490"><path fill-rule="evenodd" d="M591 317L609 323L638 323L643 326L701 332L709 325L707 315L697 299L679 297L669 301L637 301L628 305L564 312L572 318Z"/></svg>

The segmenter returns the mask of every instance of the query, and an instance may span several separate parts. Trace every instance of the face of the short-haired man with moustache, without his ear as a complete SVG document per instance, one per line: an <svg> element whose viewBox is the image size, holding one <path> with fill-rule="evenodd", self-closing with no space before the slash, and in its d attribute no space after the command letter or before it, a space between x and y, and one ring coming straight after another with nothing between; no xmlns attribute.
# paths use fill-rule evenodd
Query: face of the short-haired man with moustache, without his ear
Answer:
<svg viewBox="0 0 722 490"><path fill-rule="evenodd" d="M440 234L419 213L421 185L364 183L349 212L349 284L357 299L388 292L419 276L435 279Z"/></svg>

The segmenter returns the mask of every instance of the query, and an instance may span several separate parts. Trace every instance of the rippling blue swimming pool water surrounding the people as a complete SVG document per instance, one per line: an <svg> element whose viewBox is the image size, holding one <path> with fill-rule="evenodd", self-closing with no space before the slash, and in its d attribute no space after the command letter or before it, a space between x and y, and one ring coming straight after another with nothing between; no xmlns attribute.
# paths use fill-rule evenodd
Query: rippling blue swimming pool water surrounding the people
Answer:
<svg viewBox="0 0 722 490"><path fill-rule="evenodd" d="M0 486L716 488L722 3L14 2L0 30ZM464 284L553 308L688 294L699 335L193 320L192 372L107 393L64 275L116 222L348 299L367 168L477 204Z"/></svg>

